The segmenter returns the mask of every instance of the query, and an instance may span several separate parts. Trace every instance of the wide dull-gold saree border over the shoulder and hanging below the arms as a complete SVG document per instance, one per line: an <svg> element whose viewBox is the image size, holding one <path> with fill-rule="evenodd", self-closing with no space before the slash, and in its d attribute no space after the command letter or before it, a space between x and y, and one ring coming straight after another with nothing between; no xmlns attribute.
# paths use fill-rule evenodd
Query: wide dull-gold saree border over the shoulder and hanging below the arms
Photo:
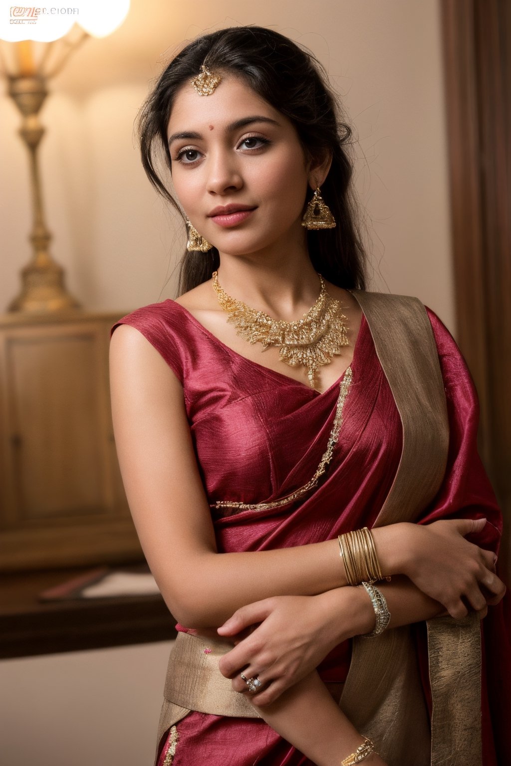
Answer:
<svg viewBox="0 0 511 766"><path fill-rule="evenodd" d="M431 322L417 298L359 290L352 295L368 321L403 426L398 471L375 526L414 521L440 489L449 445L444 381ZM461 715L480 718L480 678L464 674L465 659L457 652L459 624L451 617L427 620L428 635L434 637L428 646L428 661L437 709L431 732L410 627L387 631L372 643L360 637L353 640L352 663L340 704L359 731L378 744L388 766L457 766L463 762L482 766L480 727L469 741L464 728L455 725L458 716L452 721L444 719L443 725L439 720L438 711L441 715L453 712L449 700L456 699L462 677L462 699L470 710ZM471 644L477 645L479 620L467 623L469 635ZM432 653L433 646L444 650ZM458 753L467 754L469 749L465 761L457 759Z"/></svg>

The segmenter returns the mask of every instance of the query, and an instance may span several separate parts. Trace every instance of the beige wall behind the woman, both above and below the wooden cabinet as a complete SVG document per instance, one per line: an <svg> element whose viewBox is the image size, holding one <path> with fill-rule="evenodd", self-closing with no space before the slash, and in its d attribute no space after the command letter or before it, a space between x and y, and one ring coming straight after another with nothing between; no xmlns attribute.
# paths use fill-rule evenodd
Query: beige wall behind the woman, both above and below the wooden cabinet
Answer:
<svg viewBox="0 0 511 766"><path fill-rule="evenodd" d="M71 290L87 307L120 310L173 295L164 283L182 241L139 167L133 119L160 54L234 23L274 26L326 64L359 132L377 281L421 297L453 328L437 0L134 0L123 28L75 54L42 112L47 221ZM18 115L7 99L0 106L1 310L18 290L30 221ZM150 764L167 650L0 663L2 762Z"/></svg>

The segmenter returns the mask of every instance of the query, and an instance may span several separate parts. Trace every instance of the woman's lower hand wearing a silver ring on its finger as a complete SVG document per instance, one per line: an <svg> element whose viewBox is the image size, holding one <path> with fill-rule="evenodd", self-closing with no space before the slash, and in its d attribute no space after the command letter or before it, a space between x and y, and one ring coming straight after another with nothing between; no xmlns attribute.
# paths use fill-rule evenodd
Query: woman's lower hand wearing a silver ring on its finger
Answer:
<svg viewBox="0 0 511 766"><path fill-rule="evenodd" d="M218 628L235 637L257 627L224 654L220 672L237 692L248 692L240 673L257 676L262 687L250 694L257 706L269 705L316 669L338 643L372 630L374 612L359 588L339 588L317 596L275 596L238 609Z"/></svg>

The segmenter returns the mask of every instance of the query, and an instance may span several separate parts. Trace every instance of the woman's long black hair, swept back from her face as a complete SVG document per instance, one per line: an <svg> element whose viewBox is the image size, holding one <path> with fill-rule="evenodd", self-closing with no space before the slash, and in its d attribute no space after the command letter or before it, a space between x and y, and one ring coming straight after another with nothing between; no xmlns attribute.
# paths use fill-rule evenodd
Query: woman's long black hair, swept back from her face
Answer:
<svg viewBox="0 0 511 766"><path fill-rule="evenodd" d="M329 282L364 289L364 250L352 188L353 165L347 147L352 130L329 88L322 65L289 38L263 27L232 27L202 35L165 68L139 114L142 165L157 191L179 211L158 165L172 172L167 126L175 95L198 74L201 64L241 77L260 97L293 123L311 159L332 154L332 166L321 191L337 226L307 231L314 268ZM310 192L312 195L312 191ZM179 294L211 278L220 264L218 250L188 253L181 261Z"/></svg>

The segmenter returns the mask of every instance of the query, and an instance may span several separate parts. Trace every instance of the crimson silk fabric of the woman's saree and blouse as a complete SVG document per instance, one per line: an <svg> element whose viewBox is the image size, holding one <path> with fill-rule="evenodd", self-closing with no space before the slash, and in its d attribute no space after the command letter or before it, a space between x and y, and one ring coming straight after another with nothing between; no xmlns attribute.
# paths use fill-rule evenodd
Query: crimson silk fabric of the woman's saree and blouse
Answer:
<svg viewBox="0 0 511 766"><path fill-rule="evenodd" d="M444 471L444 465L441 466L444 480L438 482L434 496L428 498L418 513L406 508L404 496L401 506L395 505L401 516L387 523L400 519L431 522L447 517L485 516L489 523L473 542L496 550L501 519L477 456L477 400L473 385L453 339L433 313L428 315L447 400L450 434L447 467ZM198 466L215 523L218 552L260 551L320 542L349 529L372 527L377 522L404 454L403 413L400 417L388 380L399 375L399 355L396 365L392 365L392 359L390 363L387 360L385 374L372 337L377 328L373 325L370 331L365 316L352 364L323 394L232 351L174 301L146 306L121 322L139 329L182 381ZM420 397L418 402L420 408ZM340 425L334 434L335 447L329 464L310 491L300 496L300 488L321 464L336 422ZM420 438L427 441L429 437L422 434ZM187 631L185 627L178 628ZM417 647L414 656L406 658L406 673L417 679L421 676L424 682L420 692L415 686L407 707L412 712L411 725L417 711L417 721L421 720L424 729L423 711L428 708L431 712L424 630L421 626L405 630L414 633ZM498 635L492 633L493 648L501 637L500 631ZM442 649L442 644L439 648ZM326 683L349 681L351 656L349 642L336 647L318 668L322 679ZM211 654L209 657L203 654L201 661L206 659L215 660ZM479 673L479 668L476 670ZM225 684L230 687L230 682L219 671L218 676L215 683L224 683L227 695ZM355 683L355 692L356 688ZM401 703L405 699L402 692L403 689L399 692ZM214 715L211 709L188 712L186 703L180 707L180 700L173 698L175 693L175 689L165 693L159 729L160 764L169 766L173 762L175 766L185 766L203 760L213 766L309 764L264 722L248 717L254 715L253 709L239 715L234 710L229 714L233 715L231 718ZM349 699L346 705L349 712ZM483 761L476 758L471 762L496 766L491 722L492 715L493 720L496 715L495 711L490 714L484 686L482 709ZM385 711L389 710L391 705L385 707ZM368 712L366 719L370 716ZM391 729L401 724L390 715L385 723L390 738ZM419 741L418 732L411 738L415 734ZM414 766L430 762L428 736L429 732L421 731L423 744L421 753L414 757ZM397 763L391 759L388 762ZM445 761L454 763L457 761ZM399 766L408 764L401 761Z"/></svg>

